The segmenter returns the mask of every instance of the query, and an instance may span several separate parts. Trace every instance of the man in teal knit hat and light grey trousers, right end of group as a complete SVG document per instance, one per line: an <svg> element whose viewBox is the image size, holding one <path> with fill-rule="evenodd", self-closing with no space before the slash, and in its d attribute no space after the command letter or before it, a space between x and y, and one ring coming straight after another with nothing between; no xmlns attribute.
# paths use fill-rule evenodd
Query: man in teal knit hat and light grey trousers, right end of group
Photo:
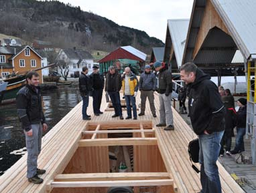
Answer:
<svg viewBox="0 0 256 193"><path fill-rule="evenodd" d="M168 71L168 66L161 61L155 61L153 64L158 74L157 92L159 95L159 113L160 123L157 127L164 127L164 130L174 130L174 119L172 116L172 73Z"/></svg>

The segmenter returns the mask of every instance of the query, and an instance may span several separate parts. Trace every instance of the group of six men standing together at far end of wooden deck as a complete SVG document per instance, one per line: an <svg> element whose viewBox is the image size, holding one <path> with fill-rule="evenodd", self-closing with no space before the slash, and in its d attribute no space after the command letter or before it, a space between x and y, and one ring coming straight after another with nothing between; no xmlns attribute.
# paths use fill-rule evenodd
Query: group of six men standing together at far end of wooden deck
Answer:
<svg viewBox="0 0 256 193"><path fill-rule="evenodd" d="M123 75L114 66L109 67L106 74L106 80L103 75L99 74L99 69L94 66L90 76L87 75L88 68L83 67L79 77L79 89L82 96L82 118L83 120L90 120L90 115L86 113L88 107L88 99L90 92L93 98L93 111L95 116L103 114L100 111L101 99L103 95L103 87L105 82L105 91L111 98L115 114L112 118L119 117L123 120L123 111L120 100L120 90L123 88L123 96L127 108L127 117L125 120L133 118L137 120L137 106L136 95L141 92L141 112L138 116L145 115L145 103L148 98L150 110L153 118L156 118L155 104L154 104L154 91L159 93L159 114L160 121L156 126L166 127L164 130L174 130L174 122L172 116L172 74L168 71L166 63L156 61L153 64L155 71L159 71L158 81L155 73L151 71L150 65L145 65L145 71L141 73L138 80L137 76L131 71L130 67L125 67ZM133 113L133 114L132 114Z"/></svg>

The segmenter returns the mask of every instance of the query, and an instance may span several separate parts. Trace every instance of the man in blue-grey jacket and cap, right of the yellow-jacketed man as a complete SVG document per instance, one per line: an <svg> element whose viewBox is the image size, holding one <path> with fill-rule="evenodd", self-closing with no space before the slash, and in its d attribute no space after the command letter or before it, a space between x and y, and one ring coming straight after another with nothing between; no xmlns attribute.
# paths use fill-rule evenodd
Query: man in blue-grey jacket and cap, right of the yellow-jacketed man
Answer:
<svg viewBox="0 0 256 193"><path fill-rule="evenodd" d="M139 113L139 116L145 115L145 104L148 98L152 116L156 118L155 104L153 103L153 92L155 91L155 89L155 74L151 72L150 65L145 65L145 71L141 73L141 77L139 78L139 90L141 91L141 112Z"/></svg>

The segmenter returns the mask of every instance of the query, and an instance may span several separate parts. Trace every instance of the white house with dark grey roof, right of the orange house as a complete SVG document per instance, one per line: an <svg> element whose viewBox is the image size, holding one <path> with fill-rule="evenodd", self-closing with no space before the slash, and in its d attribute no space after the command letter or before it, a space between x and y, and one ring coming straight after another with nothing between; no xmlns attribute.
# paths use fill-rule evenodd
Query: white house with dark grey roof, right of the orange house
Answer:
<svg viewBox="0 0 256 193"><path fill-rule="evenodd" d="M82 67L87 66L89 73L92 72L93 57L88 51L82 49L60 49L56 62L58 63L58 72L60 73L60 66L68 66L68 77L78 77Z"/></svg>

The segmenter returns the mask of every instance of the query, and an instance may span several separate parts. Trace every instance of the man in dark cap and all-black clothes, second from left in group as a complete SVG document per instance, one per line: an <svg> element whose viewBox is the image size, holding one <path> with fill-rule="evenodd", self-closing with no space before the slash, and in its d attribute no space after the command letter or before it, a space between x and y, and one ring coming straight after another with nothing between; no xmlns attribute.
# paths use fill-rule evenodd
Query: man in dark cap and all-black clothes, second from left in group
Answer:
<svg viewBox="0 0 256 193"><path fill-rule="evenodd" d="M99 67L94 65L90 74L90 83L92 85L93 112L95 116L103 114L101 112L101 99L103 98L104 77L99 73Z"/></svg>

